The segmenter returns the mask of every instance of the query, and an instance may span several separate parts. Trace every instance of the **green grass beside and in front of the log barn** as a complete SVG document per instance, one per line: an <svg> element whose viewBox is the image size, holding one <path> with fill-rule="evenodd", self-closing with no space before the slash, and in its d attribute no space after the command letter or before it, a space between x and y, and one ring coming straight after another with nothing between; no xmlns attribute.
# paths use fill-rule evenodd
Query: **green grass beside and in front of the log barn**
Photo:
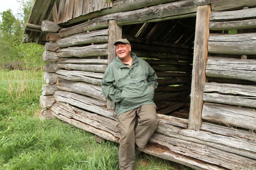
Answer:
<svg viewBox="0 0 256 170"><path fill-rule="evenodd" d="M0 69L0 169L118 169L118 144L99 144L93 134L58 119L39 120L42 84L41 70ZM186 167L140 154L134 169Z"/></svg>

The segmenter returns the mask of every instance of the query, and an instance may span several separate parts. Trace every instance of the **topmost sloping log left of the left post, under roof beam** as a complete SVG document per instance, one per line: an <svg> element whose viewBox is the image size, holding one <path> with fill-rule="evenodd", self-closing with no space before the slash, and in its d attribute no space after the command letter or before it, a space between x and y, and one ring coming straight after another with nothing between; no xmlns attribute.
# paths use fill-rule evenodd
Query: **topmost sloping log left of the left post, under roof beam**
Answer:
<svg viewBox="0 0 256 170"><path fill-rule="evenodd" d="M101 28L108 28L108 19L105 16L95 18L68 28L62 28L59 31L59 35L61 38L64 38L78 33L94 31Z"/></svg>

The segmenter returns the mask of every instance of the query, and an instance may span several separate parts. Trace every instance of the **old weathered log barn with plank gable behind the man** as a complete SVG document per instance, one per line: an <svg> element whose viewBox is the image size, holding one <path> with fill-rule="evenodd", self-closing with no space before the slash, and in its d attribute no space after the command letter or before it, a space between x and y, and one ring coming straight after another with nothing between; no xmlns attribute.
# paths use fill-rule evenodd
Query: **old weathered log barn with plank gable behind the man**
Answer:
<svg viewBox="0 0 256 170"><path fill-rule="evenodd" d="M127 38L158 76L158 127L142 152L195 169L256 169L255 0L36 0L23 42L45 44L40 104L118 143L100 87Z"/></svg>

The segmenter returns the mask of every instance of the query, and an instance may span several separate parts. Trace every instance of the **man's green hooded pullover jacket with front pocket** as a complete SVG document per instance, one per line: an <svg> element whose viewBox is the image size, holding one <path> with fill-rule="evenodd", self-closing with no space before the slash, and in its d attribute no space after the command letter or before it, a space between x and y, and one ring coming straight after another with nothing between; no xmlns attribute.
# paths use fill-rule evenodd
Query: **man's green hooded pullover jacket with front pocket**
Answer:
<svg viewBox="0 0 256 170"><path fill-rule="evenodd" d="M116 103L117 115L142 105L154 104L154 89L158 85L156 73L146 61L132 52L131 55L131 68L116 56L108 65L101 84L106 98Z"/></svg>

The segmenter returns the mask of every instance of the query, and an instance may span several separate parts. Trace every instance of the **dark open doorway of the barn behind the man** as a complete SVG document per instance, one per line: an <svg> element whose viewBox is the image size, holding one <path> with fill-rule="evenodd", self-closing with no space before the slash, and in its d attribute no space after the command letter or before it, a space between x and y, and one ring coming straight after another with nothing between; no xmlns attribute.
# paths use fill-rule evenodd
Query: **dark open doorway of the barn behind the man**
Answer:
<svg viewBox="0 0 256 170"><path fill-rule="evenodd" d="M158 114L188 119L196 17L125 25L122 38L156 71Z"/></svg>

